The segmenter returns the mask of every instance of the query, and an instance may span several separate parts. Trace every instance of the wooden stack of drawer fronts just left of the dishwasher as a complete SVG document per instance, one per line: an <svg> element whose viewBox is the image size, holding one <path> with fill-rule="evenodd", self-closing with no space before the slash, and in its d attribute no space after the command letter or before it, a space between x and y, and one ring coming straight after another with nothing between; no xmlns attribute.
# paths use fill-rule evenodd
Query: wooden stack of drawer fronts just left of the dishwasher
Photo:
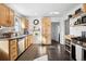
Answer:
<svg viewBox="0 0 86 64"><path fill-rule="evenodd" d="M17 57L17 42L16 40L10 40L10 60L13 61Z"/></svg>

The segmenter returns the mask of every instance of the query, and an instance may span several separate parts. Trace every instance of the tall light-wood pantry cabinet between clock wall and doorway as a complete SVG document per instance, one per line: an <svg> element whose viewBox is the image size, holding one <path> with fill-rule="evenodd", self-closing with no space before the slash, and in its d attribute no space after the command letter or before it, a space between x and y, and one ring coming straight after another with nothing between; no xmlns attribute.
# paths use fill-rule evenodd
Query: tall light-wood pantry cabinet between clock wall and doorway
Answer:
<svg viewBox="0 0 86 64"><path fill-rule="evenodd" d="M49 17L44 17L41 22L42 29L42 43L50 44L51 43L51 21Z"/></svg>

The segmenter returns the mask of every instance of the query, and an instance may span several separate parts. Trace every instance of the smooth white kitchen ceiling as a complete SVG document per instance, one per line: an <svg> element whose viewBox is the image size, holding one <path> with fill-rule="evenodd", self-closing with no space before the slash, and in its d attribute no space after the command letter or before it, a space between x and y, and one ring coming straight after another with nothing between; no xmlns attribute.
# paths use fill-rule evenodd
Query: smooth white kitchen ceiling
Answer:
<svg viewBox="0 0 86 64"><path fill-rule="evenodd" d="M25 16L62 17L79 3L8 3L8 5ZM58 12L58 14L52 12Z"/></svg>

